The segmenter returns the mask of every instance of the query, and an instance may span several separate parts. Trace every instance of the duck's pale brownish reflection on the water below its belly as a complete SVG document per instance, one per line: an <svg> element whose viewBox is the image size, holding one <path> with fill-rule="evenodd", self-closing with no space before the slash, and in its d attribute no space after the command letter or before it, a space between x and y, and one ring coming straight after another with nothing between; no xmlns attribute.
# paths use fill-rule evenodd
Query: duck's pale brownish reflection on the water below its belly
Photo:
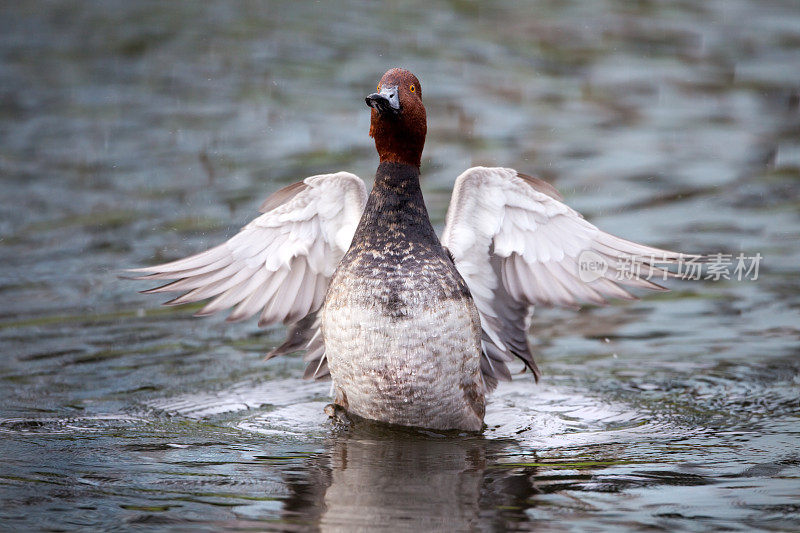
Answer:
<svg viewBox="0 0 800 533"><path fill-rule="evenodd" d="M515 452L513 443L475 435L361 423L336 432L325 454L289 475L285 519L323 531L502 526L524 519L537 492L535 468L498 467L498 457Z"/></svg>

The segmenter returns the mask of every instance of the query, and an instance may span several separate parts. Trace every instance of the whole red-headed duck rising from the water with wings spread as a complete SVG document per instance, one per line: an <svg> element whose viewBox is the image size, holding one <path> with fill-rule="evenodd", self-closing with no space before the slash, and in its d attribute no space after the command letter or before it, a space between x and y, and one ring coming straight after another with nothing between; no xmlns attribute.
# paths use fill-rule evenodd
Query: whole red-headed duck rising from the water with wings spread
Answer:
<svg viewBox="0 0 800 533"><path fill-rule="evenodd" d="M606 233L549 183L502 167L456 178L440 239L420 186L420 81L392 68L365 103L379 157L369 193L349 172L286 186L228 241L131 269L168 280L143 292L182 293L167 305L209 300L197 316L232 309L229 321L287 325L267 358L304 351L304 377L330 379L333 405L355 418L480 432L509 363L539 381L535 306L663 291L654 274L674 277L669 265L689 257Z"/></svg>

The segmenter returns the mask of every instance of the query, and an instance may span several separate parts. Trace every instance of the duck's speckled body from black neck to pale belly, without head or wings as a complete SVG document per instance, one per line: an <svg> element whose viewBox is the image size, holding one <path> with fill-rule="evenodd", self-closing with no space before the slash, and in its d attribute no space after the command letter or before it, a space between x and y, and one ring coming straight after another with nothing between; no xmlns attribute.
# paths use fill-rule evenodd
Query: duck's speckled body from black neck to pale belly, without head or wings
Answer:
<svg viewBox="0 0 800 533"><path fill-rule="evenodd" d="M408 426L482 427L480 318L433 231L417 168L378 167L331 279L322 333L336 402L348 411Z"/></svg>

